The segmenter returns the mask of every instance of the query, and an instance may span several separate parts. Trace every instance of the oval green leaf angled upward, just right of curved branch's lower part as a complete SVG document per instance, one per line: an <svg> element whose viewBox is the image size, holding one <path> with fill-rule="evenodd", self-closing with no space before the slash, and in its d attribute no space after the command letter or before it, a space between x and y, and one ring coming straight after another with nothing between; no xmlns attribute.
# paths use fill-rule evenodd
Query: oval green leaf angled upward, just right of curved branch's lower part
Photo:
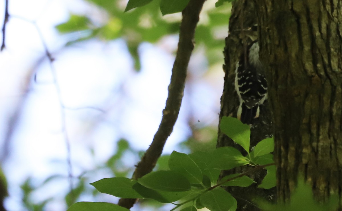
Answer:
<svg viewBox="0 0 342 211"><path fill-rule="evenodd" d="M197 164L184 153L173 151L169 158L169 168L185 176L190 183L202 183L203 175Z"/></svg>

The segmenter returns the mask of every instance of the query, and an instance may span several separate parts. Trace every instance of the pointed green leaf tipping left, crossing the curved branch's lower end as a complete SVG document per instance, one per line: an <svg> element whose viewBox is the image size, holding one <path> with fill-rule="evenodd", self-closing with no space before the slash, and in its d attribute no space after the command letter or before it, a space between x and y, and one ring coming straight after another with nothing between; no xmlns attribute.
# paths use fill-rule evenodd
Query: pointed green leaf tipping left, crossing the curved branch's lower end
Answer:
<svg viewBox="0 0 342 211"><path fill-rule="evenodd" d="M132 186L137 183L136 180L125 177L105 178L90 183L101 193L110 194L119 198L143 198Z"/></svg>

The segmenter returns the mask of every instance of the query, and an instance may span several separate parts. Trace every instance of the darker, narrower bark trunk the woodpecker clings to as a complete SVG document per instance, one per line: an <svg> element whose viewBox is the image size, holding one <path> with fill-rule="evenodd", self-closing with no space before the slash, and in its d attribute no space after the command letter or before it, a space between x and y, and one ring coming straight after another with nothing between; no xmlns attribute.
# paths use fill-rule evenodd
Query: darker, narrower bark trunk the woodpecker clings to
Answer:
<svg viewBox="0 0 342 211"><path fill-rule="evenodd" d="M247 29L255 24L257 18L255 17L255 4L250 0L233 1L232 15L229 20L229 36L225 40L224 60L225 64L223 69L224 76L224 88L221 97L221 113L222 116L235 116L239 106L238 96L235 92L235 68L238 62L239 56L244 54L246 46L248 44L247 36L241 29ZM250 40L249 40L250 41ZM250 146L255 146L259 141L273 135L272 119L268 109L267 101L260 107L260 117L254 119L251 125L251 142ZM232 139L224 135L219 127L218 143L217 147L233 146L239 149L244 155L247 153L235 144ZM251 167L236 168L221 173L221 177L232 173L243 173L250 170ZM258 196L266 200L276 200L275 188L265 190L257 188L266 174L266 170L255 171L248 176L256 181L249 187L227 187L227 191L231 193L238 202L237 210L244 211L256 211L260 210L253 198Z"/></svg>

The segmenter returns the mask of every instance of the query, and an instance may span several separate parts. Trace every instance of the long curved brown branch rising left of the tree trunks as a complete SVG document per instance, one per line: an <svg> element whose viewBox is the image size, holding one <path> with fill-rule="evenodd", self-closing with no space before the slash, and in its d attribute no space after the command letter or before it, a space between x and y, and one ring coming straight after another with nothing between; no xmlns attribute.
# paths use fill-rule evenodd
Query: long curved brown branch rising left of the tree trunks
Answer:
<svg viewBox="0 0 342 211"><path fill-rule="evenodd" d="M151 145L136 166L132 179L141 178L152 171L163 151L167 138L171 135L181 107L186 70L194 49L195 29L204 2L205 0L190 0L182 12L183 19L179 32L178 50L172 68L171 82L168 88L169 95L163 110L163 117ZM130 209L135 201L136 199L121 198L118 205Z"/></svg>

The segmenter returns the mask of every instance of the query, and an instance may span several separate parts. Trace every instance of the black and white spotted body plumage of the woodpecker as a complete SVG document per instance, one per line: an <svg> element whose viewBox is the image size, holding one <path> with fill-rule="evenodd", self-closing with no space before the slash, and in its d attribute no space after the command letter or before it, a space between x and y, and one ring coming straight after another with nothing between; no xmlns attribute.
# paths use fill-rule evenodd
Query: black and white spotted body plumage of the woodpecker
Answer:
<svg viewBox="0 0 342 211"><path fill-rule="evenodd" d="M257 41L247 47L247 55L242 53L236 65L235 90L240 99L237 117L242 123L250 124L253 118L259 117L259 105L267 99L267 82Z"/></svg>

